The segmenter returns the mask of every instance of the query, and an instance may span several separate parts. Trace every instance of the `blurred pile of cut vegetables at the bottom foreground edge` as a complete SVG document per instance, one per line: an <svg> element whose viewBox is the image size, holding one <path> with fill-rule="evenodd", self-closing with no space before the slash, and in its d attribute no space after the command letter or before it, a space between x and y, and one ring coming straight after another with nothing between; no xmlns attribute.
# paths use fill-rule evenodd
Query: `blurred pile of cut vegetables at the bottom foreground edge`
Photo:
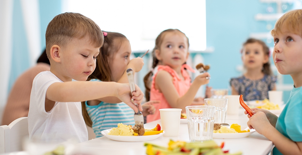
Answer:
<svg viewBox="0 0 302 155"><path fill-rule="evenodd" d="M144 146L147 147L147 155L210 155L210 154L222 154L222 155L240 155L241 151L236 153L229 153L229 150L222 150L224 142L218 146L215 141L209 140L204 142L187 143L185 141L173 141L170 140L168 148L151 144L146 142Z"/></svg>

